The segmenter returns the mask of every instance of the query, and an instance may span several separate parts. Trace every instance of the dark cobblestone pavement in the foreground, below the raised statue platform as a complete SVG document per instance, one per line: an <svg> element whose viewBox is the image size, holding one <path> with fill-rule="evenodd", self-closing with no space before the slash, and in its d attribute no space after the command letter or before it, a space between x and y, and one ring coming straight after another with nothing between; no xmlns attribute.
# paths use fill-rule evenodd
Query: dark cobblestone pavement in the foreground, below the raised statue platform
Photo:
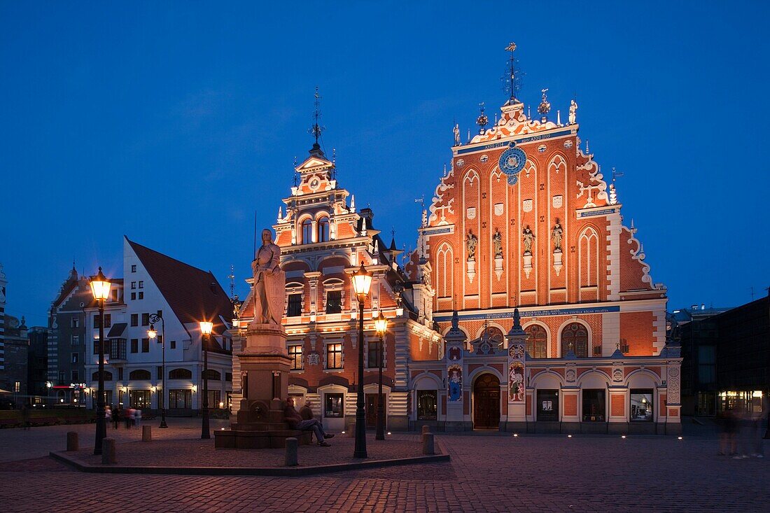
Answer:
<svg viewBox="0 0 770 513"><path fill-rule="evenodd" d="M85 474L50 458L13 461L0 465L0 511L768 511L770 504L768 460L720 457L715 438L439 440L450 463L318 478Z"/></svg>

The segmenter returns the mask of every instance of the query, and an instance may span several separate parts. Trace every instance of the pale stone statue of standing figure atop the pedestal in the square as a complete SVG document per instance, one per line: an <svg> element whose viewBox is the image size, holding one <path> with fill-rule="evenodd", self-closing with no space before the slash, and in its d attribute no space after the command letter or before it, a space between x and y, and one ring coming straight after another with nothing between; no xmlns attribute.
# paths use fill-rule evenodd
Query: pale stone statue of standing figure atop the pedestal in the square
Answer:
<svg viewBox="0 0 770 513"><path fill-rule="evenodd" d="M262 246L251 263L254 275L254 324L277 324L283 317L286 273L280 268L281 249L270 230L262 230Z"/></svg>

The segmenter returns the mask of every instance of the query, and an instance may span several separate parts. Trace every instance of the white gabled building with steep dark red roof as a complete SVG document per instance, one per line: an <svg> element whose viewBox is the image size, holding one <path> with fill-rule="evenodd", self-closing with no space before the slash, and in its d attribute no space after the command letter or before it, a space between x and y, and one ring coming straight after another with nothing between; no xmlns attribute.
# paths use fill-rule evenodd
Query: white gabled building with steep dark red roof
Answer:
<svg viewBox="0 0 770 513"><path fill-rule="evenodd" d="M203 403L199 321L210 320L214 327L208 350L209 407L227 407L233 374L226 330L233 307L214 275L125 238L123 280L115 280L115 286L117 300L105 304L106 403L160 410L165 334L168 413L198 411ZM92 303L86 312L89 356L84 386L91 392L89 407L94 407L99 387L99 311ZM152 314L163 319L154 325L158 332L154 340L148 334Z"/></svg>

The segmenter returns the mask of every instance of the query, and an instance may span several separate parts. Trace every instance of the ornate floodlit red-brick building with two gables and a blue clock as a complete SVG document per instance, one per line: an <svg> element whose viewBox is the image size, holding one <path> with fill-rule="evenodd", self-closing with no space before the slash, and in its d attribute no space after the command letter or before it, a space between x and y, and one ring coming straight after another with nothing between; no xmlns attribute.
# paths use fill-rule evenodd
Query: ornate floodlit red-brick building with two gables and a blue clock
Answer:
<svg viewBox="0 0 770 513"><path fill-rule="evenodd" d="M381 310L391 429L680 430L666 289L651 280L614 185L581 149L577 103L566 124L548 119L545 91L537 110L531 119L512 94L492 128L482 112L466 143L455 126L452 166L405 268L371 210L357 211L336 183L317 138L296 167L300 181L273 225L286 271L290 393L310 398L328 428L353 422L357 344L366 345L373 425L370 320ZM375 277L357 340L349 274L362 262ZM252 312L249 297L243 327Z"/></svg>

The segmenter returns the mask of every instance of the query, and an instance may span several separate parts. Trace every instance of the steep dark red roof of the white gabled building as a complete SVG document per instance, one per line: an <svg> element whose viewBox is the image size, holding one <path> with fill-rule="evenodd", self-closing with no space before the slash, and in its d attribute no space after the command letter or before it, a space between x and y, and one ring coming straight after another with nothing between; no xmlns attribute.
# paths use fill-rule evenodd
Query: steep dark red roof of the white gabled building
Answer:
<svg viewBox="0 0 770 513"><path fill-rule="evenodd" d="M128 237L126 240L182 323L210 320L214 323L215 332L223 333L226 328L219 316L230 322L233 305L211 271L167 257Z"/></svg>

